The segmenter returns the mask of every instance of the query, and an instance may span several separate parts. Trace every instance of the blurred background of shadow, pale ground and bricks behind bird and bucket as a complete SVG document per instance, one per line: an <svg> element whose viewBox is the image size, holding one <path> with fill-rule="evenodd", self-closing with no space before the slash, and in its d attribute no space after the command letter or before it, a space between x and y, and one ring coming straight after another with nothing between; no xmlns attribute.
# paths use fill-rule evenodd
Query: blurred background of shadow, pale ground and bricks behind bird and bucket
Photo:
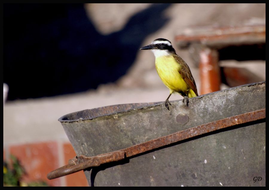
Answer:
<svg viewBox="0 0 269 190"><path fill-rule="evenodd" d="M139 50L154 39L172 42L199 95L265 81L265 4L39 3L3 4L3 10L3 157L16 156L25 169L20 185L88 186L82 171L46 177L75 156L57 119L107 105L164 101L169 90L154 55ZM228 44L225 35L232 36ZM202 72L204 50L217 63L215 75ZM217 88L203 84L208 76L219 78ZM182 97L169 100L176 99Z"/></svg>

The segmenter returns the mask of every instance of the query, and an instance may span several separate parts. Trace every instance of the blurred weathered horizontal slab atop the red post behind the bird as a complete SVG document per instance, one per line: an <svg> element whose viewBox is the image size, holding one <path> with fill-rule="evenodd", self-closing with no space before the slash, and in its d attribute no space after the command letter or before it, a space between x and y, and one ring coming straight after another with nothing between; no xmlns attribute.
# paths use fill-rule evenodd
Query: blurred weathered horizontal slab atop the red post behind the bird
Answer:
<svg viewBox="0 0 269 190"><path fill-rule="evenodd" d="M178 32L175 40L182 48L197 42L214 48L259 44L265 43L265 30L265 25L192 27Z"/></svg>

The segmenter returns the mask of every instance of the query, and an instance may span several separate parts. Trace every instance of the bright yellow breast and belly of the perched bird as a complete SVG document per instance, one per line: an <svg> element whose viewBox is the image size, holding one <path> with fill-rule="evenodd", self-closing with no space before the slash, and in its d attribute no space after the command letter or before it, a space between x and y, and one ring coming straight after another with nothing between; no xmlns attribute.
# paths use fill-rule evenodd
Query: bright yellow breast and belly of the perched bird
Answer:
<svg viewBox="0 0 269 190"><path fill-rule="evenodd" d="M180 65L173 56L159 56L155 58L155 67L163 84L170 93L183 91L188 94L189 86L179 74Z"/></svg>

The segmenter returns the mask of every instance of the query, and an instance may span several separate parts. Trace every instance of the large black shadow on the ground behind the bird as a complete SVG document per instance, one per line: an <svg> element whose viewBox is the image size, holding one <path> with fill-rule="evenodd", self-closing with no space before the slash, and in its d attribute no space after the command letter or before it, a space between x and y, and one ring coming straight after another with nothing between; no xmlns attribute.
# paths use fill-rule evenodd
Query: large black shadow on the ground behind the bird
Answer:
<svg viewBox="0 0 269 190"><path fill-rule="evenodd" d="M83 4L4 4L8 100L76 93L116 81L143 40L168 21L163 11L169 6L152 4L122 30L101 35Z"/></svg>

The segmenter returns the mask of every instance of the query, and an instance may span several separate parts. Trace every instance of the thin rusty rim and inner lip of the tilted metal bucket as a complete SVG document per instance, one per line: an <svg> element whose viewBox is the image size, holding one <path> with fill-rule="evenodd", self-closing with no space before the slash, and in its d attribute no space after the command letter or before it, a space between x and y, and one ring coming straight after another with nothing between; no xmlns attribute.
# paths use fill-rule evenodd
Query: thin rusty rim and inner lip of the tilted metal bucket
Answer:
<svg viewBox="0 0 269 190"><path fill-rule="evenodd" d="M244 86L260 85L260 84L263 84L263 83L265 83L265 81L255 82L255 83L250 83L250 84L245 84L245 85L240 85L240 86L236 86L236 87L233 87L233 88L227 88L227 89L224 89L224 90L221 90L221 91L230 91L230 90L233 90L235 88L241 88L241 87L244 87ZM202 98L202 97L204 97L206 95L212 95L212 94L215 94L215 93L218 93L218 92L220 92L220 91L215 91L215 92L204 94L204 95L201 95L201 96L196 96L194 98L190 98L190 101L192 99ZM172 103L172 102L178 102L178 101L181 101L181 99L180 100L170 101L170 103ZM131 110L134 110L134 109L142 109L142 108L145 108L145 107L152 107L152 106L157 106L157 105L161 105L161 104L163 104L163 102L134 103L134 104L132 104L132 105L136 105L134 108L127 108L127 109L124 109L122 111L113 111L113 112L108 113L108 114L100 114L100 115L96 115L96 116L93 116L93 117L86 117L86 118L82 118L82 119L71 119L71 120L67 120L66 119L71 114L81 112L81 111L78 111L78 112L74 112L74 113L71 113L71 114L66 114L66 115L60 117L58 119L58 121L59 122L69 122L70 123L70 122L78 122L78 121L84 121L84 120L92 120L92 119L95 119L97 117L110 116L110 115L113 115L113 114L118 114L118 113L122 113L122 112L126 112L126 111L131 111ZM100 107L100 108L108 110L108 108L111 108L111 107L124 106L124 105L130 105L130 104L109 105L109 106ZM97 109L100 109L100 108L93 108L93 109L88 109L88 110L94 110L94 109L97 110ZM87 111L87 110L82 110L82 111Z"/></svg>

